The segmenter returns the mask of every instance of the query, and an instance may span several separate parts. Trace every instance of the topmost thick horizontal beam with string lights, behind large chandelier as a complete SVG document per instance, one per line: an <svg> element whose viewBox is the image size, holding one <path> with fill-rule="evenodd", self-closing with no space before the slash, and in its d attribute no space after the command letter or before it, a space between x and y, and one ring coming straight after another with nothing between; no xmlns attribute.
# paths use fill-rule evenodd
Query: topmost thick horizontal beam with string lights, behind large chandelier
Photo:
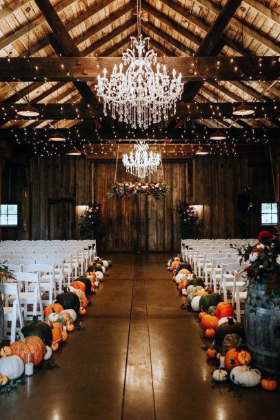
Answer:
<svg viewBox="0 0 280 420"><path fill-rule="evenodd" d="M96 47L94 43L91 48ZM0 81L95 82L101 68L106 67L110 73L114 64L119 66L121 62L121 57L0 58ZM167 68L175 67L182 73L183 81L272 81L279 78L280 71L280 62L274 56L159 57L158 62L165 63Z"/></svg>

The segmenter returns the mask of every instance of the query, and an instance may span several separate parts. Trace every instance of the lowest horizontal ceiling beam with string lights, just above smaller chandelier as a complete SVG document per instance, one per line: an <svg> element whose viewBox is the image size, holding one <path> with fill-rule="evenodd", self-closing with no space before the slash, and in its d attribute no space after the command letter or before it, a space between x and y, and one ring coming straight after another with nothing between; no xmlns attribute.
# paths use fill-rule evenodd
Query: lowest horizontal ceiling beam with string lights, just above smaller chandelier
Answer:
<svg viewBox="0 0 280 420"><path fill-rule="evenodd" d="M195 142L201 140L209 142L210 135L216 130L217 128L206 128L200 126L199 124L195 124L192 130L183 130L183 128L156 128L154 132L150 134L148 139L161 139L163 141L166 139L172 139L172 142L174 141L175 143L188 143L188 141ZM10 128L2 128L0 130L0 141L41 141L48 139L50 135L54 133L54 131L55 129L53 128L34 129L27 127L19 129L13 128L13 130L10 130ZM134 139L136 141L137 139L147 139L147 132L142 130L132 130L124 126L123 128L102 128L101 130L98 130L98 132L95 132L94 130L88 130L88 128L61 128L59 132L64 134L68 141L73 142L91 141L93 143L100 143L100 139L103 139L104 141L130 141L130 139ZM223 132L225 132L228 136L228 143L241 141L241 143L248 142L250 144L254 144L255 141L266 141L266 139L276 139L279 141L280 137L280 128L244 129L230 127L223 129ZM211 143L215 143L215 141L212 141Z"/></svg>

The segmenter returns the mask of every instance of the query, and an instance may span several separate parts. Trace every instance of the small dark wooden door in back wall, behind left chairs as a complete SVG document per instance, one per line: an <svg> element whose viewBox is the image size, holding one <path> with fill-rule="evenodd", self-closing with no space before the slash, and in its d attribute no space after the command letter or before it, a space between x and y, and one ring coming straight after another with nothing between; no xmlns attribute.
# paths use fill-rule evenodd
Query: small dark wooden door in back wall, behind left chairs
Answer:
<svg viewBox="0 0 280 420"><path fill-rule="evenodd" d="M76 218L72 199L48 202L48 239L75 239Z"/></svg>

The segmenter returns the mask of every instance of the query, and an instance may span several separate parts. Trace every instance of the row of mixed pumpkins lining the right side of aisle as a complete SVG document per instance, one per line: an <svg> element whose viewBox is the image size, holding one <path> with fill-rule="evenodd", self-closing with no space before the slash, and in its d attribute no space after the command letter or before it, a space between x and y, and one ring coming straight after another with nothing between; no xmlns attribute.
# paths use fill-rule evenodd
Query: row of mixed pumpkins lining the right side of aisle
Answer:
<svg viewBox="0 0 280 420"><path fill-rule="evenodd" d="M223 302L219 293L205 287L203 280L192 274L191 268L187 268L179 257L168 261L168 270L173 272L173 281L177 283L179 292L186 289L188 306L199 312L203 336L212 340L206 356L218 360L220 364L212 374L214 381L230 378L239 386L253 387L261 383L263 389L277 389L276 379L262 379L261 372L250 366L252 355L246 350L243 323L234 319L231 304Z"/></svg>

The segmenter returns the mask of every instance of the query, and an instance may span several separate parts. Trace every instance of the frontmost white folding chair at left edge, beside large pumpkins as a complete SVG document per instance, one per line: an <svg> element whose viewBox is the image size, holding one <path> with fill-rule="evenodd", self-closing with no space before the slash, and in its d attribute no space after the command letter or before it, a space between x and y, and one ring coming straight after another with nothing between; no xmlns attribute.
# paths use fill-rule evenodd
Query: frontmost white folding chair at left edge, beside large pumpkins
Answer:
<svg viewBox="0 0 280 420"><path fill-rule="evenodd" d="M3 312L4 312L4 339L10 338L10 343L16 341L17 321L19 321L20 328L23 328L23 308L21 308L21 300L19 297L19 283L2 283L0 284L0 298L3 295ZM10 297L12 299L12 306L9 306ZM8 328L8 321L11 326ZM10 330L10 337L8 332Z"/></svg>

